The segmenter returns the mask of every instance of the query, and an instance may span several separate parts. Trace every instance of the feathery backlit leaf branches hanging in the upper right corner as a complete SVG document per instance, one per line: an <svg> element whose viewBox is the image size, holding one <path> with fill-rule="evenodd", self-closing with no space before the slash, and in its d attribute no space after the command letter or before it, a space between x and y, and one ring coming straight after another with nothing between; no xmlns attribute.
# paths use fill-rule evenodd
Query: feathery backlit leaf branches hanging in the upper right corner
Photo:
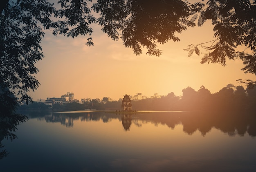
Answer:
<svg viewBox="0 0 256 172"><path fill-rule="evenodd" d="M203 1L203 0L202 0ZM199 55L199 47L206 49L201 63L220 63L226 65L226 59L240 58L245 64L245 73L256 74L256 1L255 0L208 0L199 13L191 13L191 20L198 18L198 26L211 20L215 38L209 42L189 45L186 51ZM209 45L209 46L207 46ZM240 45L252 53L236 51Z"/></svg>

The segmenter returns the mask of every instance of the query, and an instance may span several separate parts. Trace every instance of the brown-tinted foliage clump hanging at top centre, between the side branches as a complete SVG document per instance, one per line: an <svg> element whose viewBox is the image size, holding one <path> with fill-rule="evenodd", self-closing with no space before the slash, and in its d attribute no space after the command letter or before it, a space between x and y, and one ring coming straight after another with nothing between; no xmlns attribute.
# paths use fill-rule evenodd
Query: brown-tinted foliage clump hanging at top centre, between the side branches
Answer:
<svg viewBox="0 0 256 172"><path fill-rule="evenodd" d="M201 3L190 4L182 0L98 0L92 8L101 17L97 20L103 32L113 40L119 37L126 47L134 53L142 53L141 47L148 49L147 54L159 56L157 42L180 41L175 33L181 33L187 26L195 26L189 20L191 11L202 10Z"/></svg>

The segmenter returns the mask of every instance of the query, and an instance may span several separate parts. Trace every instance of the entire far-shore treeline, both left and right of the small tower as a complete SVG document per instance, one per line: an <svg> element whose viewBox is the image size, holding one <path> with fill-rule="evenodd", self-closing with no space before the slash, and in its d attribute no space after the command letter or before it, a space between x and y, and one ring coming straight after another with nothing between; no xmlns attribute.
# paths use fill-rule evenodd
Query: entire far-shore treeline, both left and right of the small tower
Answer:
<svg viewBox="0 0 256 172"><path fill-rule="evenodd" d="M20 110L54 110L54 111L73 111L73 110L121 110L121 101L98 102L92 100L79 104L76 102L68 104L54 104L52 108L34 102L29 106L20 106ZM160 98L147 98L142 100L132 100L132 110L182 110L182 111L202 111L202 110L256 110L256 88L244 89L243 86L234 87L229 84L222 88L218 93L211 92L201 86L199 90L187 87L182 90L182 96L175 96L173 92Z"/></svg>

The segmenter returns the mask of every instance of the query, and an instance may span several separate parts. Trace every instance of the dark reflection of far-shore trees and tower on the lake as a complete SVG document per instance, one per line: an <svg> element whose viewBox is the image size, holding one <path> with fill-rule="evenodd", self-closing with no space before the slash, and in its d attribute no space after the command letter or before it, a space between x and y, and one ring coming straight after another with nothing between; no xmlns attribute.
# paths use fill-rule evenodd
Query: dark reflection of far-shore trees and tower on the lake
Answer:
<svg viewBox="0 0 256 172"><path fill-rule="evenodd" d="M119 119L125 131L134 126L142 127L144 122L166 125L174 129L183 125L183 132L192 135L197 130L202 136L207 135L212 128L217 128L229 136L243 136L248 133L256 137L256 115L245 112L150 112L137 114L112 114L106 112L90 113L52 113L45 117L47 122L59 122L66 127L73 127L74 120L99 121L104 123Z"/></svg>

